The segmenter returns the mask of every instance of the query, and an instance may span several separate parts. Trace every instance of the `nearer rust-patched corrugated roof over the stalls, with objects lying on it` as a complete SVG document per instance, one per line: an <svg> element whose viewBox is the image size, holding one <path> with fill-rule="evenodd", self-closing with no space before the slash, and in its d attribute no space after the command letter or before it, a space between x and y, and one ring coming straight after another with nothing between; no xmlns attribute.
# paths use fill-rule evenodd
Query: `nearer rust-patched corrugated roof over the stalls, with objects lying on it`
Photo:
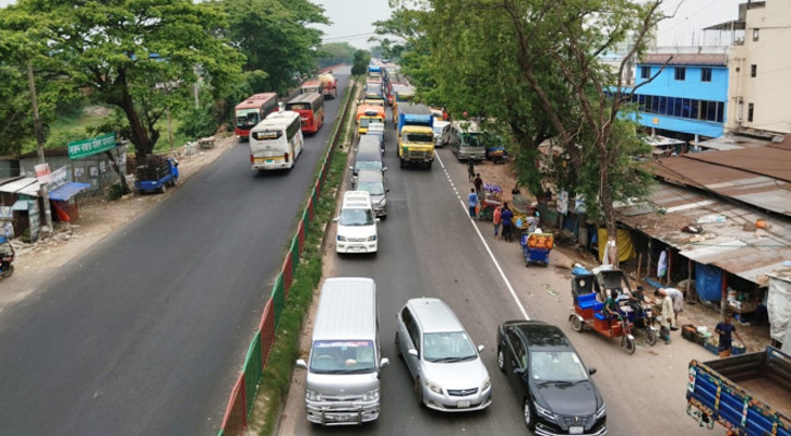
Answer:
<svg viewBox="0 0 791 436"><path fill-rule="evenodd" d="M782 263L791 261L791 222L766 218L668 183L659 183L652 190L649 202L654 210L640 215L634 214L634 206L618 208L619 220L676 247L685 257L762 286L766 284L766 275L788 268ZM767 219L770 228L745 230L745 225L755 223L759 218ZM715 222L697 223L698 220ZM703 227L704 232L682 231L690 223Z"/></svg>

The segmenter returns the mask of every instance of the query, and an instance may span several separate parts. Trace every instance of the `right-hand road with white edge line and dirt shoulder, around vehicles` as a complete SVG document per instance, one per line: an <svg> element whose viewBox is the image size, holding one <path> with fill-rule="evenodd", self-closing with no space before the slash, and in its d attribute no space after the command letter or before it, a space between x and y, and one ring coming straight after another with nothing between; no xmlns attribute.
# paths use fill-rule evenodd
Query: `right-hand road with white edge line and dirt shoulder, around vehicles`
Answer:
<svg viewBox="0 0 791 436"><path fill-rule="evenodd" d="M496 327L504 320L523 318L519 304L529 317L561 326L586 364L598 368L594 379L607 401L611 435L712 434L699 429L684 412L686 364L692 358L711 354L676 335L672 346L640 347L634 355L627 355L615 341L571 330L570 271L552 266L525 268L517 243L494 241L491 223L468 218L456 192L466 198L471 184L466 166L458 164L450 150L440 150L443 165L434 162L431 171L403 170L392 147L392 124L387 125L386 134L391 192L388 218L380 227L380 253L372 257L337 258L333 270L333 276L376 280L382 350L392 361L382 373L382 415L373 425L362 427L310 425L303 410L304 371L297 370L281 435L396 435L407 434L405 428L408 434L433 436L527 434L520 398L498 371L495 356ZM332 250L329 246L327 256L336 256ZM552 256L556 261L561 254L555 251ZM492 257L508 278L513 294ZM423 295L443 299L474 341L486 346L482 358L494 389L489 410L441 414L418 407L408 371L396 356L393 337L397 311L408 299Z"/></svg>

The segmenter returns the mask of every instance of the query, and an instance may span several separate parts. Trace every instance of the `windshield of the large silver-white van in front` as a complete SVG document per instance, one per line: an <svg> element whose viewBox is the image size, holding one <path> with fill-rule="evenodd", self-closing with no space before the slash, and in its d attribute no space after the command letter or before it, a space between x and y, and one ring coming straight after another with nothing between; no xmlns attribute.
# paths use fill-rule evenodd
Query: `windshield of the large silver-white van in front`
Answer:
<svg viewBox="0 0 791 436"><path fill-rule="evenodd" d="M369 373L375 370L372 341L319 340L313 342L310 371L319 374Z"/></svg>

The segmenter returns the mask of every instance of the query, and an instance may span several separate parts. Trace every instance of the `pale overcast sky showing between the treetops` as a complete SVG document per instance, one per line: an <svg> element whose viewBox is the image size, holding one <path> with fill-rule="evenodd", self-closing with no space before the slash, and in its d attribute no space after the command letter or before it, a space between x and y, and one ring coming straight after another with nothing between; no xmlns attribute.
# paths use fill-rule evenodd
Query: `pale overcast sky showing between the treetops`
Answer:
<svg viewBox="0 0 791 436"><path fill-rule="evenodd" d="M313 0L324 7L326 15L333 22L331 26L320 26L326 35L326 41L348 41L367 48L368 38L373 35L374 21L386 20L391 10L387 0ZM789 1L789 0L769 0ZM0 0L0 7L13 3L14 0ZM659 46L690 46L700 44L702 29L712 24L739 16L739 3L746 0L666 0L663 7L670 14L681 3L674 19L664 21L659 26ZM709 35L710 37L711 35ZM716 40L709 41L716 44Z"/></svg>

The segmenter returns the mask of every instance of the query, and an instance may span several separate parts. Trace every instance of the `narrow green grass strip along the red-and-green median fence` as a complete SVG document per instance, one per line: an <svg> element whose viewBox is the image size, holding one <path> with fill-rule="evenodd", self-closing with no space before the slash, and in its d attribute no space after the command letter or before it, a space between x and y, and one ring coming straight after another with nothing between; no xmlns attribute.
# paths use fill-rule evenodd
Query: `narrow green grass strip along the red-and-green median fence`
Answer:
<svg viewBox="0 0 791 436"><path fill-rule="evenodd" d="M350 96L351 87L347 88L341 108L348 105ZM350 118L351 116L347 117ZM333 125L333 131L341 129L341 136L338 138L339 144L348 143L349 123L338 124L344 121L336 119ZM322 194L314 205L313 221L308 229L300 263L293 274L293 282L275 331L276 339L263 370L255 405L248 421L251 429L262 436L275 434L279 423L280 410L288 396L293 362L299 354L302 323L313 302L313 290L322 277L322 240L326 225L335 213L335 193L343 180L346 161L347 150L335 147ZM321 167L316 169L314 180L319 175L319 171L321 171ZM307 204L308 199L305 199L303 208Z"/></svg>

